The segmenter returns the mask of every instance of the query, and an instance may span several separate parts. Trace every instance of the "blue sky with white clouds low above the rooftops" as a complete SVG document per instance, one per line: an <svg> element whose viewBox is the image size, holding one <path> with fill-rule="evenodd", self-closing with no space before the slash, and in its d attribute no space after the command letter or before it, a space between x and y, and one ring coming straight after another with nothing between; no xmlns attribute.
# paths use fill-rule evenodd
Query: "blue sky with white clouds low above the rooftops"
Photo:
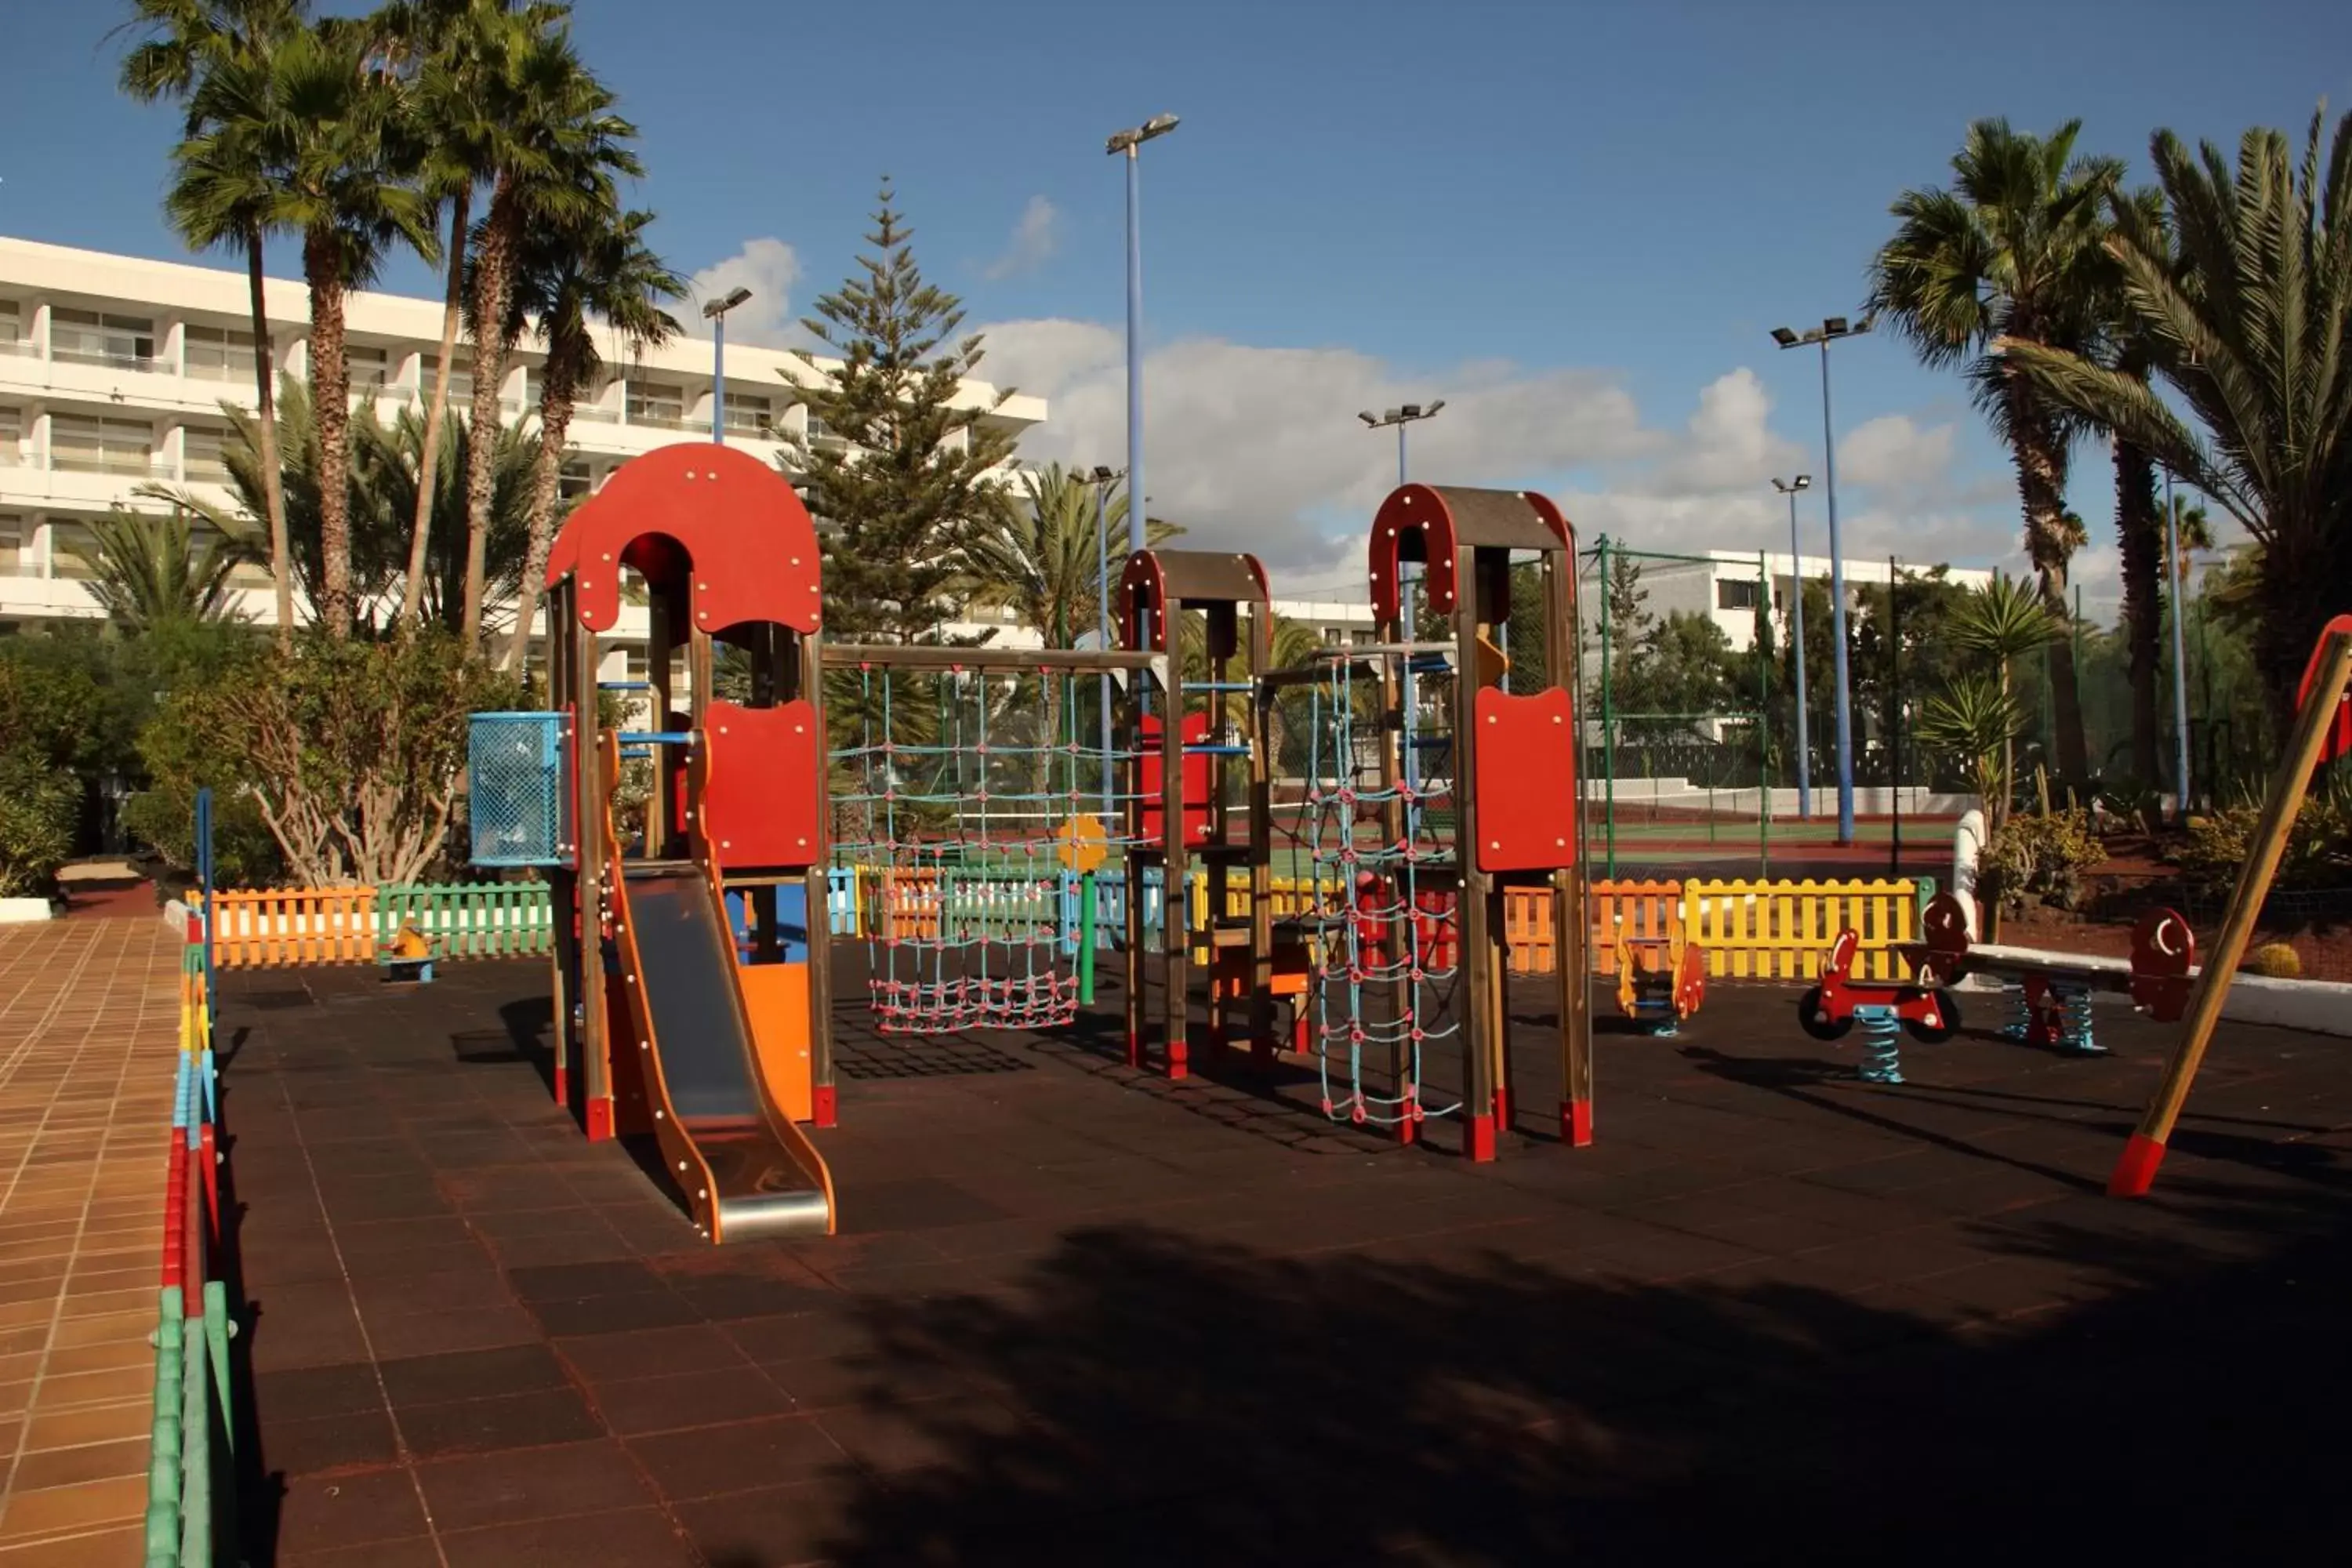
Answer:
<svg viewBox="0 0 2352 1568"><path fill-rule="evenodd" d="M0 233L181 259L158 214L172 115L113 89L127 7L0 12ZM1416 480L1543 489L1585 541L1785 550L1771 477L1811 473L1818 555L1820 360L1766 334L1860 313L1889 202L1945 181L1969 120L2082 118L2079 146L2145 181L2157 127L2300 141L2321 99L2352 106L2340 0L579 0L574 26L642 132L656 247L703 292L755 289L731 341L807 341L889 176L924 273L985 334L981 374L1049 400L1033 463L1127 463L1103 139L1181 115L1143 148L1150 508L1315 597L1362 597L1397 477L1357 409L1435 397ZM414 261L383 284L435 292ZM1846 555L2018 569L2016 487L1959 378L1891 334L1832 360ZM2110 496L2082 447L2093 614Z"/></svg>

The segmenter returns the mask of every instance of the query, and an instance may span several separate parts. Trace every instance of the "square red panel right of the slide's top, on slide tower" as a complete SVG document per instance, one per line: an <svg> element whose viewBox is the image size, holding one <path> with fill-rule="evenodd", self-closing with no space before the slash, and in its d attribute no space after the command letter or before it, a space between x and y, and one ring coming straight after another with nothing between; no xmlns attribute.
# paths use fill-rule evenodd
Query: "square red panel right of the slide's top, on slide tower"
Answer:
<svg viewBox="0 0 2352 1568"><path fill-rule="evenodd" d="M710 748L703 832L717 863L762 870L814 865L826 790L826 738L816 708L710 703L703 745Z"/></svg>

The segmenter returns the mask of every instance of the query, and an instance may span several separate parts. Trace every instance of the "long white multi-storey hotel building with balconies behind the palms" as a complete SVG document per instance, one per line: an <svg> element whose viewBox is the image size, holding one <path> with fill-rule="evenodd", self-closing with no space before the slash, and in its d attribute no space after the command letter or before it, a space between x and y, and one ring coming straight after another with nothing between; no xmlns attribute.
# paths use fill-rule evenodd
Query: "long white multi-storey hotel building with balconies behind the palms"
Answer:
<svg viewBox="0 0 2352 1568"><path fill-rule="evenodd" d="M270 277L263 296L280 371L308 364L310 296L301 282ZM141 261L101 252L0 237L0 635L42 621L96 618L87 569L64 541L87 538L111 508L160 510L136 491L183 487L235 508L221 468L228 440L223 404L254 409L254 336L245 273ZM691 313L684 313L691 317ZM440 353L440 301L353 294L348 301L350 383L390 421L421 409L433 393ZM583 388L572 418L567 496L593 494L614 468L670 442L710 440L710 343L677 339L642 353L604 346L604 383ZM543 355L522 343L499 386L508 421L539 407ZM449 407L473 397L470 357L459 341ZM826 444L807 407L790 402L793 381L816 371L797 355L727 346L727 440L776 461L786 437ZM995 404L997 390L967 381L967 404ZM1014 395L983 416L1014 435L1042 423L1042 397ZM1112 562L1117 569L1117 562ZM268 623L275 614L268 571L240 569L240 609ZM1327 639L1367 632L1364 604L1284 602L1282 614L1310 621ZM962 630L978 630L964 625ZM644 611L623 609L616 661L644 632ZM1000 625L1000 642L1035 642ZM642 644L640 644L642 646Z"/></svg>

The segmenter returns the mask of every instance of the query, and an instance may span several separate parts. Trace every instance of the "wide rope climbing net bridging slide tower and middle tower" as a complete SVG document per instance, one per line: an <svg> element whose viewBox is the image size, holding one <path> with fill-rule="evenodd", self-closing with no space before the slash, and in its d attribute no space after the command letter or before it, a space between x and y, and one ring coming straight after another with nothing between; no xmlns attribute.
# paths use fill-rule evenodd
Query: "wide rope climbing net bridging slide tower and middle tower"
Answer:
<svg viewBox="0 0 2352 1568"><path fill-rule="evenodd" d="M1035 654L1028 654L1035 661ZM1131 752L1084 743L1096 679L1070 670L858 665L828 693L835 886L849 882L884 1034L1042 1030L1077 1016L1080 943L1122 846ZM1098 731L1096 731L1098 733ZM1091 820L1089 820L1091 818Z"/></svg>

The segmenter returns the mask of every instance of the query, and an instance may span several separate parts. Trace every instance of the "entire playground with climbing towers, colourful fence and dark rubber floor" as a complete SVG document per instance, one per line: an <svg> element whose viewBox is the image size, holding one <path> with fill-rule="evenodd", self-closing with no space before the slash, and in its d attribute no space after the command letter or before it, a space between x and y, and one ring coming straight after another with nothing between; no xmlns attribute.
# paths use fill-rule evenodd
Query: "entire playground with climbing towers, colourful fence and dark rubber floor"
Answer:
<svg viewBox="0 0 2352 1568"><path fill-rule="evenodd" d="M1378 639L1296 668L1247 555L1141 550L1120 646L1018 656L828 644L814 559L724 449L574 512L560 703L475 715L508 882L216 891L198 799L151 1561L221 1521L294 1568L1679 1561L1764 1516L1938 1561L2352 1512L2310 1436L2352 1086L2216 1034L2352 750L2352 618L2211 950L2152 910L2096 957L1922 877L1595 877L1534 494L1392 491ZM597 642L623 571L647 682ZM1089 783L1021 682L1110 675Z"/></svg>

